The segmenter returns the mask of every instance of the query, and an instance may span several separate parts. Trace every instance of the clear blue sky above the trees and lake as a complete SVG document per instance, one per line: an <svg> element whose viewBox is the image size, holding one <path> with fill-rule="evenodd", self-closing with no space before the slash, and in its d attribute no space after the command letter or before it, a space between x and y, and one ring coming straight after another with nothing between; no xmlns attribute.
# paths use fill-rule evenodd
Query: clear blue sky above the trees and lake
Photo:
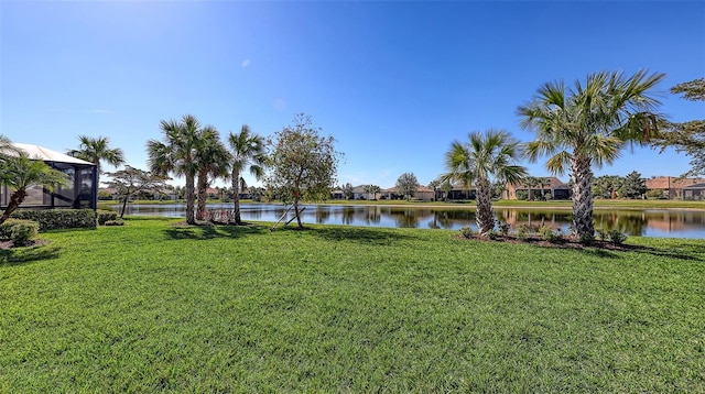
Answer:
<svg viewBox="0 0 705 394"><path fill-rule="evenodd" d="M702 1L4 0L0 22L0 133L61 152L108 136L142 168L162 119L271 135L306 112L345 153L340 184L412 172L425 185L453 140L496 128L530 141L517 107L598 70L665 73L662 112L705 118L668 91L705 76ZM596 173L687 163L637 149Z"/></svg>

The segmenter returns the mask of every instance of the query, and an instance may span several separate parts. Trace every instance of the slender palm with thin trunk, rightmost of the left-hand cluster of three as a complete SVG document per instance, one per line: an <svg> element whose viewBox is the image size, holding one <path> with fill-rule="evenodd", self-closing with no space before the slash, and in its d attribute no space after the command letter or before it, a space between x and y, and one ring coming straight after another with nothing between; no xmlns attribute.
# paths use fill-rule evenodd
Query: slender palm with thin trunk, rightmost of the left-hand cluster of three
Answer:
<svg viewBox="0 0 705 394"><path fill-rule="evenodd" d="M264 175L264 164L267 162L264 140L260 135L253 134L249 125L243 124L239 133L230 133L228 143L230 144L230 155L232 157L232 174L230 178L232 180L235 205L234 220L235 225L241 225L239 195L241 173L249 169L250 174L257 179L260 179Z"/></svg>

